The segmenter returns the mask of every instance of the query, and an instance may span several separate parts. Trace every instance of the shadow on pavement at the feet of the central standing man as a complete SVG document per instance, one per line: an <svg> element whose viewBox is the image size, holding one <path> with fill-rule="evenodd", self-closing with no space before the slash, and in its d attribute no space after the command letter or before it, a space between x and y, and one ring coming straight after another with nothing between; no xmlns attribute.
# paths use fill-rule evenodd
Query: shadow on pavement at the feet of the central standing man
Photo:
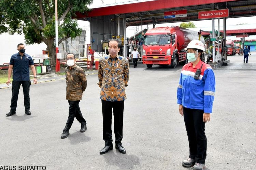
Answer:
<svg viewBox="0 0 256 170"><path fill-rule="evenodd" d="M137 156L119 153L118 150L115 153L113 150L103 155L106 163L118 166L120 169L134 169L135 165L140 165L140 159Z"/></svg>

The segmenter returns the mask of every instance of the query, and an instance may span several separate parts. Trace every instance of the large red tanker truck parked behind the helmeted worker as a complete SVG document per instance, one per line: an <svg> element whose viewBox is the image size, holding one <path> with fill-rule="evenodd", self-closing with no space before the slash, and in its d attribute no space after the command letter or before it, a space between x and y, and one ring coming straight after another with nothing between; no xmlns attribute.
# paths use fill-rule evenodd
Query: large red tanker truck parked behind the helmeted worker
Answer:
<svg viewBox="0 0 256 170"><path fill-rule="evenodd" d="M188 63L186 51L188 43L199 39L198 32L181 27L158 27L148 30L143 40L142 63L151 68L153 64L171 65ZM204 44L204 38L200 41Z"/></svg>

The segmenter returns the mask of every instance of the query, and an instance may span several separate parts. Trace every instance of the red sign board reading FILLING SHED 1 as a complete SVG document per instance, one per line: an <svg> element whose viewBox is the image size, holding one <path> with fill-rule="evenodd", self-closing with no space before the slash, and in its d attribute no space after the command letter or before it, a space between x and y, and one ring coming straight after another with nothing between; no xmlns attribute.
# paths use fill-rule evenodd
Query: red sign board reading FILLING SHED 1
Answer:
<svg viewBox="0 0 256 170"><path fill-rule="evenodd" d="M226 18L226 17L228 17L228 9L198 12L198 19Z"/></svg>

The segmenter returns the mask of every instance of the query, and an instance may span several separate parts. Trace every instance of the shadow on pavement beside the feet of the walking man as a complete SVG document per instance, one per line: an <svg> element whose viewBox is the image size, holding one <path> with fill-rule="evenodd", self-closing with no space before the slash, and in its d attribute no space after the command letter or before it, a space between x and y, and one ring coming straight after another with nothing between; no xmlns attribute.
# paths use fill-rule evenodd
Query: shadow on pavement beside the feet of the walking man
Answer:
<svg viewBox="0 0 256 170"><path fill-rule="evenodd" d="M90 137L86 136L86 131L83 133L81 133L80 131L76 131L75 133L70 133L67 138L70 140L70 143L72 145L88 142L91 140Z"/></svg>

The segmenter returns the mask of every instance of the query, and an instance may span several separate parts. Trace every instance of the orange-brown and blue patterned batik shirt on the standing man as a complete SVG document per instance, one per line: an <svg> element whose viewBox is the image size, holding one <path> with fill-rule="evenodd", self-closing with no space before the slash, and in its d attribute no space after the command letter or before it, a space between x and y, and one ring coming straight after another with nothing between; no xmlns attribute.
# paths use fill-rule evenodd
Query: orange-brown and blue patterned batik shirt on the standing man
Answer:
<svg viewBox="0 0 256 170"><path fill-rule="evenodd" d="M127 58L110 55L100 58L98 70L100 99L105 101L123 101L126 99L125 87L129 80L129 62Z"/></svg>

